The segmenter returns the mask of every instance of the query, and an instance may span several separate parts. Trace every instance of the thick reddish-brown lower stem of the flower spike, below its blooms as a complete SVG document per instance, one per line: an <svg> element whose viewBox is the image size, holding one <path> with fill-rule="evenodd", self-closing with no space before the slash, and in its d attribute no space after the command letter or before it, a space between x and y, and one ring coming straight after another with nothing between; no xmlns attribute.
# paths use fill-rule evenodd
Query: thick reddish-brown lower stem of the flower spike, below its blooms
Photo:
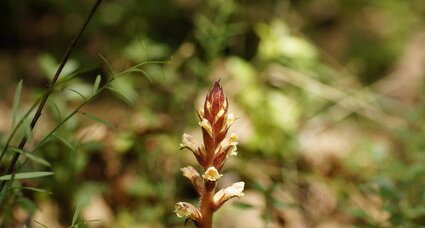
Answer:
<svg viewBox="0 0 425 228"><path fill-rule="evenodd" d="M198 225L199 228L212 228L212 219L214 213L213 197L215 194L215 187L215 181L205 180L205 188L200 199L202 221Z"/></svg>

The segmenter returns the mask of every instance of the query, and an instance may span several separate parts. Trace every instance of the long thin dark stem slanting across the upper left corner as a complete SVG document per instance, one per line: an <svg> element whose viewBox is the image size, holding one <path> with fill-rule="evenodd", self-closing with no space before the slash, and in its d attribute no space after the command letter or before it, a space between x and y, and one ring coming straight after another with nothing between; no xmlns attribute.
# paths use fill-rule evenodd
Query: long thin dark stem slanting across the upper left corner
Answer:
<svg viewBox="0 0 425 228"><path fill-rule="evenodd" d="M94 5L93 5L93 7L92 7L92 9L91 9L91 11L90 11L87 19L85 20L83 26L81 27L80 31L77 33L77 35L75 36L75 38L71 41L68 49L66 50L66 52L65 52L65 54L64 54L64 56L63 56L63 58L62 58L62 60L61 60L61 62L59 64L58 69L56 70L55 75L53 76L52 81L50 81L49 88L53 88L55 86L55 84L56 84L56 82L57 82L57 80L59 78L59 75L62 73L63 67L65 66L66 62L69 59L69 56L71 55L71 52L74 50L75 46L77 45L77 42L80 40L80 38L81 38L84 30L86 29L88 23L92 19L94 13L98 9L98 7L99 7L99 5L100 5L101 2L102 2L102 0L97 0L94 3ZM41 99L41 102L40 102L40 104L38 105L38 108L37 108L37 112L35 113L32 121L31 121L31 125L30 125L31 130L34 129L35 124L37 123L38 119L40 118L41 113L42 113L42 111L44 109L44 106L46 105L47 99L49 98L49 96L50 96L51 93L52 93L52 90L49 90L49 92L47 92L43 96L43 98ZM26 143L27 143L27 137L24 136L22 138L21 142L19 143L18 148L22 150L25 147L25 144ZM19 156L20 156L19 153L15 153L13 155L13 157L11 159L11 162L10 162L10 165L9 165L7 171L6 171L6 175L12 174L14 172L16 163L17 163L17 161L19 159ZM12 180L13 180L13 178L10 181L12 181ZM4 181L1 182L0 192L2 192L2 190L3 190L4 186L6 185L7 181L8 180L4 180Z"/></svg>

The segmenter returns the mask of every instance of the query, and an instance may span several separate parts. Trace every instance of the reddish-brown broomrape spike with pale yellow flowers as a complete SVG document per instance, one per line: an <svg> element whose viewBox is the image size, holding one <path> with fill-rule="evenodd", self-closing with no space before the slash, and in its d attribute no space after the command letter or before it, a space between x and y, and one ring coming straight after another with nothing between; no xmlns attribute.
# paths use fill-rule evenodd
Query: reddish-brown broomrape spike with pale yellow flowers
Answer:
<svg viewBox="0 0 425 228"><path fill-rule="evenodd" d="M213 213L227 200L242 196L245 183L237 182L216 192L217 180L223 176L220 171L227 158L237 154L238 144L234 133L227 135L235 117L228 113L228 100L220 81L214 83L205 98L204 107L197 113L203 144L185 133L181 147L193 152L203 168L203 174L200 175L192 166L184 167L181 171L200 195L199 208L190 203L179 202L175 205L175 212L178 217L186 217L186 221L193 220L197 227L209 228L212 227Z"/></svg>

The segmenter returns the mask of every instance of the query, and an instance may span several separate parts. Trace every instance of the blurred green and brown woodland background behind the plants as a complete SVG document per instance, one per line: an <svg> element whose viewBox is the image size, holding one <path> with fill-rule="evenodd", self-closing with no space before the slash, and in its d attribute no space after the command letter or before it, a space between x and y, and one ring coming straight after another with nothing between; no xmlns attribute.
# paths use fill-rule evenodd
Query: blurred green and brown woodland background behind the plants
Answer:
<svg viewBox="0 0 425 228"><path fill-rule="evenodd" d="M0 1L2 146L93 3ZM47 165L18 166L54 174L15 183L4 227L184 227L179 143L218 78L240 138L219 186L246 187L216 227L425 225L423 0L107 0L66 75L26 147Z"/></svg>

